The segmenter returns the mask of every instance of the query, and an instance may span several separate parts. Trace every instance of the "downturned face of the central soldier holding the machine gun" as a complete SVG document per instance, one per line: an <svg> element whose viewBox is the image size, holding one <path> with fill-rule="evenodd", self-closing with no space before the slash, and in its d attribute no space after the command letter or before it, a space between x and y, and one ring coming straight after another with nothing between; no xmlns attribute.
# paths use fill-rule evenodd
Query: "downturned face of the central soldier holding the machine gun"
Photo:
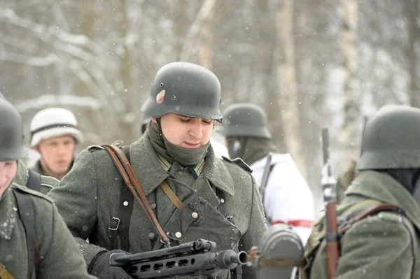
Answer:
<svg viewBox="0 0 420 279"><path fill-rule="evenodd" d="M156 119L152 118L156 123ZM200 148L209 143L214 120L169 113L160 118L162 133L167 140L183 148Z"/></svg>

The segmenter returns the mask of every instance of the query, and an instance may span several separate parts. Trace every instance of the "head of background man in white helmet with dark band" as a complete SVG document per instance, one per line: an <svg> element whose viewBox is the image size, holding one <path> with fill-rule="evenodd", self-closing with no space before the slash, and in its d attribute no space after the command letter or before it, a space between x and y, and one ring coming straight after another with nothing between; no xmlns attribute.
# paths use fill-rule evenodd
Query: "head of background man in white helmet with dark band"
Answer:
<svg viewBox="0 0 420 279"><path fill-rule="evenodd" d="M31 148L41 159L31 168L61 180L71 169L76 145L83 141L76 117L65 108L45 108L31 121Z"/></svg>

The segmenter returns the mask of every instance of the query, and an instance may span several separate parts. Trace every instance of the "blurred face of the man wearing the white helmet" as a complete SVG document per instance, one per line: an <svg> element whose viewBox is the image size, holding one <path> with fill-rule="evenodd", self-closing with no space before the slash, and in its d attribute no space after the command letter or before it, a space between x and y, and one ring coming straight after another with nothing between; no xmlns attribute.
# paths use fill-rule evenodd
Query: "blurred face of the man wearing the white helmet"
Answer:
<svg viewBox="0 0 420 279"><path fill-rule="evenodd" d="M72 136L55 136L48 138L38 146L43 164L54 174L66 174L73 162L76 141Z"/></svg>

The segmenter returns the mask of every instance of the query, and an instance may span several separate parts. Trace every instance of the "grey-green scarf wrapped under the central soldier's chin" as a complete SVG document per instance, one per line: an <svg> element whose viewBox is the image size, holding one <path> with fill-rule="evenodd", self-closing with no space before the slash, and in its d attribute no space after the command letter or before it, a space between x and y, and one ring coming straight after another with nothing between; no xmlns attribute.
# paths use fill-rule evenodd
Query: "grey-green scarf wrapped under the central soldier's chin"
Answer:
<svg viewBox="0 0 420 279"><path fill-rule="evenodd" d="M182 148L181 146L169 143L167 138L160 131L158 124L151 122L148 127L148 135L151 143L158 155L167 159L169 162L178 162L183 166L193 166L198 164L207 155L210 142L200 148Z"/></svg>

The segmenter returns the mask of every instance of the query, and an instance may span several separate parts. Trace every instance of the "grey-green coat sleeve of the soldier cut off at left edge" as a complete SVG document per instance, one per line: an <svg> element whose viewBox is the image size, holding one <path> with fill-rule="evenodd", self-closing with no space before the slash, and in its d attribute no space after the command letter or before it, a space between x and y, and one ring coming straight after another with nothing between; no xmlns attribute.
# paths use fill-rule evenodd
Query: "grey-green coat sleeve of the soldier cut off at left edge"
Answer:
<svg viewBox="0 0 420 279"><path fill-rule="evenodd" d="M41 254L40 278L95 278L87 274L83 256L69 229L48 201L36 198L35 228Z"/></svg>

